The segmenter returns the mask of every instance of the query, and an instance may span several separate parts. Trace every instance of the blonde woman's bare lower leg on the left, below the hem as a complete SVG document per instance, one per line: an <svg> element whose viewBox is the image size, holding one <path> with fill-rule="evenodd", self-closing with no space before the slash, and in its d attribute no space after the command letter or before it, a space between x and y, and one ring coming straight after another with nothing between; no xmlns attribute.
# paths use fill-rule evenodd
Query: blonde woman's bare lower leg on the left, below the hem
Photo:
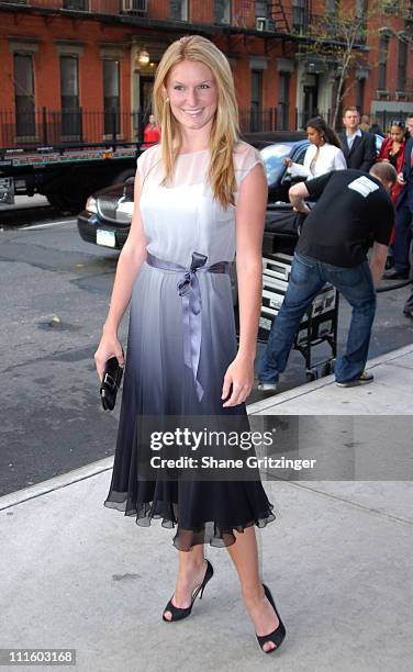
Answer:
<svg viewBox="0 0 413 672"><path fill-rule="evenodd" d="M178 551L178 576L172 604L181 609L191 604L192 593L201 585L206 571L203 556L203 544L197 544L190 551ZM165 618L171 620L171 613L165 612Z"/></svg>

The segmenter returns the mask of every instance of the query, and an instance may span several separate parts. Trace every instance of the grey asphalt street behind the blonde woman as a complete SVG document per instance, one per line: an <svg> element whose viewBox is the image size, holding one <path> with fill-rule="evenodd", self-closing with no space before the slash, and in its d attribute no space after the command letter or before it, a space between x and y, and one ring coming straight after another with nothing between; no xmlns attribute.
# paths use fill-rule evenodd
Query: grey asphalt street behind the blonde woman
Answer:
<svg viewBox="0 0 413 672"><path fill-rule="evenodd" d="M4 228L0 243L1 496L113 455L119 410L100 406L93 352L119 253L85 243L75 220ZM402 312L409 292L378 295L370 358L413 343L413 322ZM342 300L339 347L349 316ZM124 346L126 335L127 314L120 327ZM315 349L315 361L328 350ZM280 392L303 382L304 360L295 351ZM255 391L249 402L261 399Z"/></svg>

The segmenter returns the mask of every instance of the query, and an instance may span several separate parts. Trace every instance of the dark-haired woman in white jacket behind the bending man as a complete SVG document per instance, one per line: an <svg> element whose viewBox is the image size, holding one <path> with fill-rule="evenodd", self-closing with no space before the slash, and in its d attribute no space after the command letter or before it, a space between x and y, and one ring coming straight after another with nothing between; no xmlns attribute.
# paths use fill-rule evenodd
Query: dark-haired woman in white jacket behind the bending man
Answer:
<svg viewBox="0 0 413 672"><path fill-rule="evenodd" d="M294 164L290 158L286 158L287 172L292 177L310 180L331 170L347 168L338 136L327 126L324 119L321 116L311 119L306 124L306 134L311 144L305 152L304 165Z"/></svg>

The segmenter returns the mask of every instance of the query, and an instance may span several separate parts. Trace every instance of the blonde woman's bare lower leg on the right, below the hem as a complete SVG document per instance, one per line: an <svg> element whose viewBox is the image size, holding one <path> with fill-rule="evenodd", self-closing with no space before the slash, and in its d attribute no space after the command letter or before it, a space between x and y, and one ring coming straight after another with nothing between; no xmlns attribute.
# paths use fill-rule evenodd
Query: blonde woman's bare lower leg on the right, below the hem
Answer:
<svg viewBox="0 0 413 672"><path fill-rule="evenodd" d="M238 573L245 606L254 623L257 635L269 635L279 624L277 615L264 593L259 576L258 549L254 526L247 527L244 533L234 531L236 541L227 546L227 551ZM268 641L265 651L274 649L275 645Z"/></svg>

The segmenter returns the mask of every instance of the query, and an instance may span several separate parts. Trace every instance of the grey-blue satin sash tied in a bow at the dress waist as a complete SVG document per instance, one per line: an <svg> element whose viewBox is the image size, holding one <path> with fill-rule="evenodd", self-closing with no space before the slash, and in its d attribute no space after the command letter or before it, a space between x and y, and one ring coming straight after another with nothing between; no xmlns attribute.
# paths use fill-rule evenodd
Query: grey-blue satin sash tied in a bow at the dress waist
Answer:
<svg viewBox="0 0 413 672"><path fill-rule="evenodd" d="M199 285L198 273L228 273L230 262L217 261L212 266L205 266L208 257L200 253L192 253L192 262L189 268L174 264L172 261L164 261L158 257L154 257L147 253L146 264L164 270L176 271L182 273L183 277L178 281L178 293L182 299L182 320L183 320L183 360L187 367L192 370L193 382L197 390L198 400L203 396L203 389L198 380L198 367L201 355L201 337L202 337L202 317L201 317L201 291Z"/></svg>

